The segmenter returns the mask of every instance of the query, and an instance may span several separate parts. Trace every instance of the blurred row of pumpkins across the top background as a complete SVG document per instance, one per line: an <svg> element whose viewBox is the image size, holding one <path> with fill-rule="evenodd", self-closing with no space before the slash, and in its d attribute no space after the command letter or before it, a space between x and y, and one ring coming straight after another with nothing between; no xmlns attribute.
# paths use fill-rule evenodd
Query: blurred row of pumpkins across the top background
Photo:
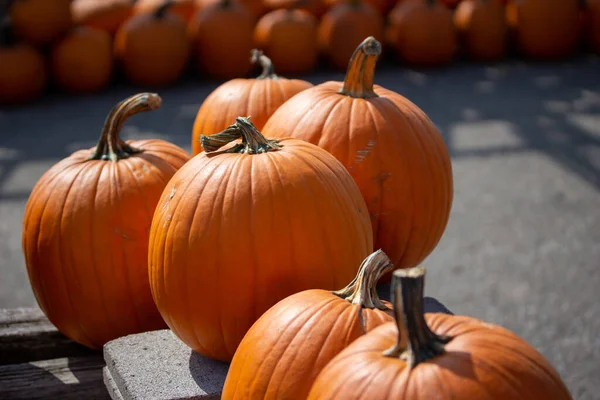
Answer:
<svg viewBox="0 0 600 400"><path fill-rule="evenodd" d="M204 77L245 77L261 48L287 75L319 58L345 69L366 36L420 67L459 53L560 59L580 43L600 54L600 0L11 0L0 39L0 104L105 88L115 69L143 88L173 84L190 64ZM585 38L585 40L582 40ZM48 61L46 63L46 60ZM48 64L48 66L46 66ZM115 65L118 67L115 68ZM49 71L49 72L47 72Z"/></svg>

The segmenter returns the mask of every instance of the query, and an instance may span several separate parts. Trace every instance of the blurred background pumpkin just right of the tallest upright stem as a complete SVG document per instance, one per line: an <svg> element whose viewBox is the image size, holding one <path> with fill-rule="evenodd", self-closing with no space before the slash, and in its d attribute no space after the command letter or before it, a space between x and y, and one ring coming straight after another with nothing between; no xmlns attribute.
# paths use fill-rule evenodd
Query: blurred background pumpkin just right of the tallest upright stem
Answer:
<svg viewBox="0 0 600 400"><path fill-rule="evenodd" d="M399 3L388 15L386 41L398 58L415 66L446 65L458 50L452 11L438 0Z"/></svg>

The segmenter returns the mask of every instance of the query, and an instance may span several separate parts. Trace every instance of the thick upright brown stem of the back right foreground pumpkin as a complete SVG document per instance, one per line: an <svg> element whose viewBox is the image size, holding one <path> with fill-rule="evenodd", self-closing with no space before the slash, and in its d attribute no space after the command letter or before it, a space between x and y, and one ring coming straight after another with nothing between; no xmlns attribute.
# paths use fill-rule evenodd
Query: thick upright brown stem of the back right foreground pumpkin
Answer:
<svg viewBox="0 0 600 400"><path fill-rule="evenodd" d="M378 97L373 91L373 77L375 75L375 64L381 54L381 43L373 36L369 36L354 50L344 86L340 89L345 96L369 99Z"/></svg>

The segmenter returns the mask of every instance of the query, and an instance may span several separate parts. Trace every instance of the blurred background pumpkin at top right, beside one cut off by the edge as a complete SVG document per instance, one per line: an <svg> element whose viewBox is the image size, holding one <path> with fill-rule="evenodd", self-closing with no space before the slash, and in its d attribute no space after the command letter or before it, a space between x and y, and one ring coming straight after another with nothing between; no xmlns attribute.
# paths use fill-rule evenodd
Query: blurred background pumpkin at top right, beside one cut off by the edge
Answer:
<svg viewBox="0 0 600 400"><path fill-rule="evenodd" d="M514 0L507 4L518 51L532 59L571 56L580 35L579 0Z"/></svg>

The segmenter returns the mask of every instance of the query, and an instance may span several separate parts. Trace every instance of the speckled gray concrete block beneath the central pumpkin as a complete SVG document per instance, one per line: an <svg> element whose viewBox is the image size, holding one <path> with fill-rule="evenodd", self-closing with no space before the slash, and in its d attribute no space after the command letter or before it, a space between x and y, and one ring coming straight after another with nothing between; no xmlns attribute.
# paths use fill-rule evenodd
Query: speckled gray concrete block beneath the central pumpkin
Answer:
<svg viewBox="0 0 600 400"><path fill-rule="evenodd" d="M193 352L168 329L108 342L104 360L113 400L219 399L229 369Z"/></svg>

